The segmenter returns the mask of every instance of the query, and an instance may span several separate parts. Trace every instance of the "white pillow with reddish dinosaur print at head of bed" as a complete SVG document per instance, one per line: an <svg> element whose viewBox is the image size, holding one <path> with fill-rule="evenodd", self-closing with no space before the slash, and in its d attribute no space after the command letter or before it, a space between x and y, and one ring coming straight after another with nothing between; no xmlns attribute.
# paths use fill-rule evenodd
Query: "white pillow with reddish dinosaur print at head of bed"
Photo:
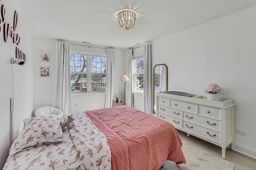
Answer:
<svg viewBox="0 0 256 170"><path fill-rule="evenodd" d="M40 116L24 119L24 127L12 144L9 155L44 143L64 141L60 126L61 117Z"/></svg>

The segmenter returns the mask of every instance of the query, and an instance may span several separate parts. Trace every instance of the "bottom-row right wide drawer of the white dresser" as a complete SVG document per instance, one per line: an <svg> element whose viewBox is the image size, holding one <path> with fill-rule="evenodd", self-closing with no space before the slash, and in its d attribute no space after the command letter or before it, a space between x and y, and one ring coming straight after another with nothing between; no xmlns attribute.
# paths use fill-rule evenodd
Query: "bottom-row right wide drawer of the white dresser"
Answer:
<svg viewBox="0 0 256 170"><path fill-rule="evenodd" d="M210 139L211 141L220 143L220 132L216 132L199 125L195 125L187 121L183 121L183 129L205 137L206 139Z"/></svg>

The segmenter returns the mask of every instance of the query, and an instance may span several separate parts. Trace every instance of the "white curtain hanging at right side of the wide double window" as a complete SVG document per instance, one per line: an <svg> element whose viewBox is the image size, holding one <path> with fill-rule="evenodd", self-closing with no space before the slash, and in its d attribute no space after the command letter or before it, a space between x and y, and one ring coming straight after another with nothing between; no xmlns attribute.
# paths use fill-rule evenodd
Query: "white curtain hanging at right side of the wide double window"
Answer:
<svg viewBox="0 0 256 170"><path fill-rule="evenodd" d="M114 67L114 49L107 49L107 65L106 65L106 98L105 107L112 107L113 95L118 96L117 78ZM117 90L116 90L117 89Z"/></svg>

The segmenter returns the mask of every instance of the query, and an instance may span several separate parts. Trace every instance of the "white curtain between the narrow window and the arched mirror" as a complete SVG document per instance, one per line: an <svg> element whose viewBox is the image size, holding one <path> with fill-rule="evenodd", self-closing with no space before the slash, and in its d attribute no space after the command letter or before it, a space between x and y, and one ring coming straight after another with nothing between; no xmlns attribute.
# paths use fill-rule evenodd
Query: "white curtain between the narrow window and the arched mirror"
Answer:
<svg viewBox="0 0 256 170"><path fill-rule="evenodd" d="M144 47L144 112L152 115L152 68L151 68L151 44Z"/></svg>

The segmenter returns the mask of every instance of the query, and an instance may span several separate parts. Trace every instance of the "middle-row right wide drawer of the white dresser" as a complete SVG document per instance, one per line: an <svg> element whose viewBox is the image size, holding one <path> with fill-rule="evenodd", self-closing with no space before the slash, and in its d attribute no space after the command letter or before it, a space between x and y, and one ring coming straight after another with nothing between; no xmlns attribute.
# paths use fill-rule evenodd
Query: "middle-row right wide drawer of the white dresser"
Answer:
<svg viewBox="0 0 256 170"><path fill-rule="evenodd" d="M183 112L183 119L197 125L208 127L212 130L220 132L220 120L210 119L208 117L202 117L193 113Z"/></svg>

